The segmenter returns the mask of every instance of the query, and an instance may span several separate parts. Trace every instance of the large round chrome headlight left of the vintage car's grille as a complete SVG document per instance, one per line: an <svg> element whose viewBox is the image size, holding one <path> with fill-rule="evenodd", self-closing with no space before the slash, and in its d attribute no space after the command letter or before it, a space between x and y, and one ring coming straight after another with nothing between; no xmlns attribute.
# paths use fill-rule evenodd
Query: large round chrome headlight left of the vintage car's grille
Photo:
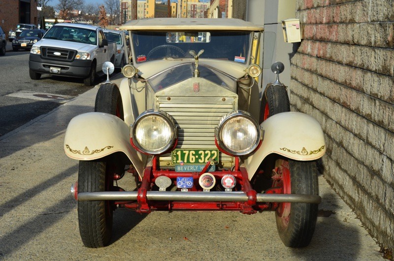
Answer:
<svg viewBox="0 0 394 261"><path fill-rule="evenodd" d="M174 121L161 110L147 110L139 115L130 131L132 143L147 154L162 154L176 139Z"/></svg>

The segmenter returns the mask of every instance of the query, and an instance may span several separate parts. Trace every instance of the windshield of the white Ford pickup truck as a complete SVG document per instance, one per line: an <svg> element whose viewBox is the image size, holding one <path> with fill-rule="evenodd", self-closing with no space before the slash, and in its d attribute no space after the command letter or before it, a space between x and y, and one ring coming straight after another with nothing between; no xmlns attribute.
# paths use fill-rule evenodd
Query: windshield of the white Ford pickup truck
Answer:
<svg viewBox="0 0 394 261"><path fill-rule="evenodd" d="M43 38L96 44L97 33L96 31L89 29L54 26L49 29Z"/></svg>

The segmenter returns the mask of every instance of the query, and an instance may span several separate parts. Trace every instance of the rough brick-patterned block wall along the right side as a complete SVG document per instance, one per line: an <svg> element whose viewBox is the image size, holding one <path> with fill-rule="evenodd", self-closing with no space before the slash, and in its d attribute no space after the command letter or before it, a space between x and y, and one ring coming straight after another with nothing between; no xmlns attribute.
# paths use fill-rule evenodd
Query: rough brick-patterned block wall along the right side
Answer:
<svg viewBox="0 0 394 261"><path fill-rule="evenodd" d="M297 0L293 111L325 131L324 175L380 244L394 249L394 1Z"/></svg>

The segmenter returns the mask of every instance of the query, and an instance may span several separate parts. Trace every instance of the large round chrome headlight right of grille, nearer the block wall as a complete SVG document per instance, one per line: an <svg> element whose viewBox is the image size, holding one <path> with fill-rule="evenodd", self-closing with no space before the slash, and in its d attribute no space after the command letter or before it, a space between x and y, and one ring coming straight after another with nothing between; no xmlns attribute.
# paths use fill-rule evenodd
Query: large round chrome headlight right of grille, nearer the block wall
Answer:
<svg viewBox="0 0 394 261"><path fill-rule="evenodd" d="M261 129L248 112L232 111L220 120L215 137L223 150L231 155L242 156L257 148Z"/></svg>

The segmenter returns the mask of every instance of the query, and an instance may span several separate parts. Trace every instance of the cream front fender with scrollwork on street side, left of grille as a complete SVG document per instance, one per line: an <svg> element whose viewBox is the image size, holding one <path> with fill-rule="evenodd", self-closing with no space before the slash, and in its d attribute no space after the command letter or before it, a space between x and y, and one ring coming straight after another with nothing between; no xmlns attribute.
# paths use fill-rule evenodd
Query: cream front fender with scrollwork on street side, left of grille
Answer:
<svg viewBox="0 0 394 261"><path fill-rule="evenodd" d="M68 157L80 161L123 152L138 174L143 175L143 157L130 144L129 126L111 114L89 112L72 118L67 126L64 149Z"/></svg>

